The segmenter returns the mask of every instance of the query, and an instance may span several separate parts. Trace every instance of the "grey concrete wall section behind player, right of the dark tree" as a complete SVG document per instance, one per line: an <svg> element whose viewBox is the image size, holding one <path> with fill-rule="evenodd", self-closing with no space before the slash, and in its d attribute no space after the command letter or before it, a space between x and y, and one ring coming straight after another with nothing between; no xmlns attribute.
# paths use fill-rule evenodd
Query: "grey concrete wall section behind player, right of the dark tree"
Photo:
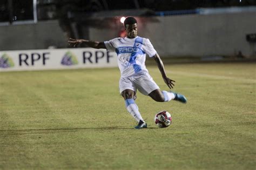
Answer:
<svg viewBox="0 0 256 170"><path fill-rule="evenodd" d="M138 18L146 21L145 18ZM256 12L154 17L139 23L138 35L149 38L161 56L251 56L255 44L246 42L256 32ZM116 30L90 29L90 38L112 39Z"/></svg>

